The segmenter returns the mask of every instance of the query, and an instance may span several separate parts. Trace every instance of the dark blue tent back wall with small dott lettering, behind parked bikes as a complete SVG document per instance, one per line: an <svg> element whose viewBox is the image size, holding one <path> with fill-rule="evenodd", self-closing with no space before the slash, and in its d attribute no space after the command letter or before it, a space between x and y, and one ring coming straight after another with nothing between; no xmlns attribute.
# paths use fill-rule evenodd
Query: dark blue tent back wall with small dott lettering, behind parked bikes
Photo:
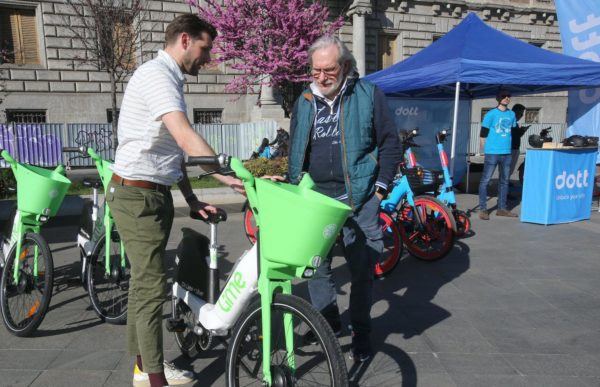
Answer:
<svg viewBox="0 0 600 387"><path fill-rule="evenodd" d="M417 163L425 168L441 170L441 162L435 143L435 134L442 129L452 129L454 112L453 100L420 100L388 97L388 103L394 116L396 129L400 131L419 129L419 136L412 148ZM471 121L471 102L461 100L458 104L458 133L454 155L453 184L460 183L467 171L467 150ZM448 136L444 149L451 155L452 136Z"/></svg>

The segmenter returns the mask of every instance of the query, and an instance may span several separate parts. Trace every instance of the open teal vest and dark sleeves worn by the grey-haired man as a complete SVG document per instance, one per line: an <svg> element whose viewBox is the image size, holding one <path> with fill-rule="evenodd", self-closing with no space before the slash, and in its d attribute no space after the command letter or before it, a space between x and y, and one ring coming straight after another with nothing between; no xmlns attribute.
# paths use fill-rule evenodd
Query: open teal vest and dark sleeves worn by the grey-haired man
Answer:
<svg viewBox="0 0 600 387"><path fill-rule="evenodd" d="M398 136L387 100L370 82L348 79L340 101L341 151L311 155L311 133L316 115L314 98L307 89L294 106L290 125L290 179L297 183L300 173L310 170L319 191L337 196L331 195L328 192L331 187L324 183L327 175L337 175L341 166L348 203L354 211L358 211L373 195L376 184L387 188L401 160ZM324 148L318 149L323 152ZM333 154L339 156L332 158ZM322 160L319 168L309 165L309 161L315 159Z"/></svg>

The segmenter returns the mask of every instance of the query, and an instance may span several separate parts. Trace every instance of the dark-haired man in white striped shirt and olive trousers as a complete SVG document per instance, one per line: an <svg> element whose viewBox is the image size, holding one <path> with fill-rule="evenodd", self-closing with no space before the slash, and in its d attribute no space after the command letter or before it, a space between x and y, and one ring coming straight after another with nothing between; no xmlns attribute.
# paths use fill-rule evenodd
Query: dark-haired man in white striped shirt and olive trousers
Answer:
<svg viewBox="0 0 600 387"><path fill-rule="evenodd" d="M184 74L195 76L210 62L217 32L188 14L174 19L165 35L165 49L135 71L125 90L114 175L106 195L131 263L127 346L137 357L135 386L184 384L193 376L165 363L163 357L163 256L174 216L170 186L177 183L191 210L202 216L216 212L198 201L183 164L184 152L215 154L187 118L183 85ZM238 179L215 176L243 192Z"/></svg>

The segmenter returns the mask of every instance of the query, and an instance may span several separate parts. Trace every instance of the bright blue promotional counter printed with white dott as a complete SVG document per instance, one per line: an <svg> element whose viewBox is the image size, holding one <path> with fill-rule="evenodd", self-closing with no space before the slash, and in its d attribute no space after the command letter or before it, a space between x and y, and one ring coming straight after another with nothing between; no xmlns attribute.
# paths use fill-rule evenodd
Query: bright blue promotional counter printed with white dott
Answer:
<svg viewBox="0 0 600 387"><path fill-rule="evenodd" d="M527 149L521 221L589 219L597 154L597 148Z"/></svg>

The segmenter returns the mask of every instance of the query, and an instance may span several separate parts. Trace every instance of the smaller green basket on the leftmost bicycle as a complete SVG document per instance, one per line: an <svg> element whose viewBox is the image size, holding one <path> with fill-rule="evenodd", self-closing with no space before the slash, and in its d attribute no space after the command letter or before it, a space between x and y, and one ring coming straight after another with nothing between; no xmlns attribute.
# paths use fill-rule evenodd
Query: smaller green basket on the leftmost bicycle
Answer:
<svg viewBox="0 0 600 387"><path fill-rule="evenodd" d="M71 185L64 175L32 165L17 164L17 208L21 212L54 216Z"/></svg>

